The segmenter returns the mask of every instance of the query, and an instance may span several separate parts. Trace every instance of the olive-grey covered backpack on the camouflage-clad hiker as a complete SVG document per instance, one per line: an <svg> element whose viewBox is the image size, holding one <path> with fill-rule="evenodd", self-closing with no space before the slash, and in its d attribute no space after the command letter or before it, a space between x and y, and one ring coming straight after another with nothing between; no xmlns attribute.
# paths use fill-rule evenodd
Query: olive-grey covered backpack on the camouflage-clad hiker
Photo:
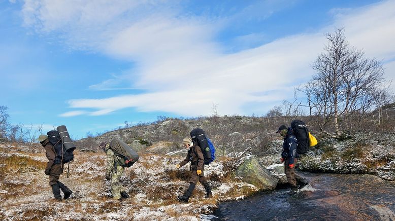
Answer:
<svg viewBox="0 0 395 221"><path fill-rule="evenodd" d="M130 167L139 160L137 152L120 139L111 140L110 149L118 157L121 167Z"/></svg>

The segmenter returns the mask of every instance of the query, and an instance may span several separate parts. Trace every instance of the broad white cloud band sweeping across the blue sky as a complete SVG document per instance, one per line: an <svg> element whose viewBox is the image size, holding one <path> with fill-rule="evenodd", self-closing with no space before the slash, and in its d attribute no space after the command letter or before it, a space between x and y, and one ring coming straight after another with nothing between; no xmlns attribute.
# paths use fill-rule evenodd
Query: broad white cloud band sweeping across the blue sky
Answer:
<svg viewBox="0 0 395 221"><path fill-rule="evenodd" d="M198 116L210 114L213 103L218 104L220 114L251 114L243 105L262 105L281 101L287 95L292 97L293 87L310 78L309 64L325 43L322 32L332 32L334 26L345 26L351 45L364 48L367 56L395 57L395 43L391 39L395 35L395 14L390 10L395 7L393 1L340 10L333 26L316 33L288 36L233 54L223 53L214 41L218 28L225 26L223 20L186 16L178 11L177 4L172 6L175 9L166 7L158 11L151 2L130 5L128 1L102 1L93 6L86 1L66 5L26 1L27 25L40 32L61 32L60 36L74 47L88 47L136 62L134 69L92 85L91 89L116 88L119 84L124 87L126 83L127 87L147 91L70 100L70 107L84 110L61 116L103 115L127 107L141 112ZM108 12L106 7L110 7ZM393 73L392 68L389 66L387 71Z"/></svg>

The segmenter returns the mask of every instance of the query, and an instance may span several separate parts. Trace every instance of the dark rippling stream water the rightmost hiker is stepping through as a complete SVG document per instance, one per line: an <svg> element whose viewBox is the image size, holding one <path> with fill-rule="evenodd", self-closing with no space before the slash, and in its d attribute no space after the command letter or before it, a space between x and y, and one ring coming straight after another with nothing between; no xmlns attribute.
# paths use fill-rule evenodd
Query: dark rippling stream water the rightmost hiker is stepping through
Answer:
<svg viewBox="0 0 395 221"><path fill-rule="evenodd" d="M373 175L299 173L315 191L224 202L212 220L394 220L395 185Z"/></svg>

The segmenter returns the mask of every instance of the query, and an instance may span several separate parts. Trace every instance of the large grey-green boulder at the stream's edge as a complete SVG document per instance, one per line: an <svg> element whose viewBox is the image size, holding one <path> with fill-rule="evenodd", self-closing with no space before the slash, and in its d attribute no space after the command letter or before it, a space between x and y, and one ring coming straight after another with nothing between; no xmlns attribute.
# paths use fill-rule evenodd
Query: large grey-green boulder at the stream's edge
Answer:
<svg viewBox="0 0 395 221"><path fill-rule="evenodd" d="M268 169L251 156L243 159L236 170L236 176L242 177L243 181L254 185L259 190L274 190L278 182Z"/></svg>

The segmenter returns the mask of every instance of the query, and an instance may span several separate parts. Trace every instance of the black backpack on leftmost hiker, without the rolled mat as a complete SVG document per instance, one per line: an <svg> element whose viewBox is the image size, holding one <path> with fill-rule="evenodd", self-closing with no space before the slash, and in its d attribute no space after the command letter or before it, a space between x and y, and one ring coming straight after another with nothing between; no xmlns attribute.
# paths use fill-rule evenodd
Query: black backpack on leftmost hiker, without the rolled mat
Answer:
<svg viewBox="0 0 395 221"><path fill-rule="evenodd" d="M63 141L59 136L57 130L50 130L47 132L48 140L53 145L55 149L56 157L55 164L59 163L69 163L74 160L74 148L66 149L63 145Z"/></svg>

